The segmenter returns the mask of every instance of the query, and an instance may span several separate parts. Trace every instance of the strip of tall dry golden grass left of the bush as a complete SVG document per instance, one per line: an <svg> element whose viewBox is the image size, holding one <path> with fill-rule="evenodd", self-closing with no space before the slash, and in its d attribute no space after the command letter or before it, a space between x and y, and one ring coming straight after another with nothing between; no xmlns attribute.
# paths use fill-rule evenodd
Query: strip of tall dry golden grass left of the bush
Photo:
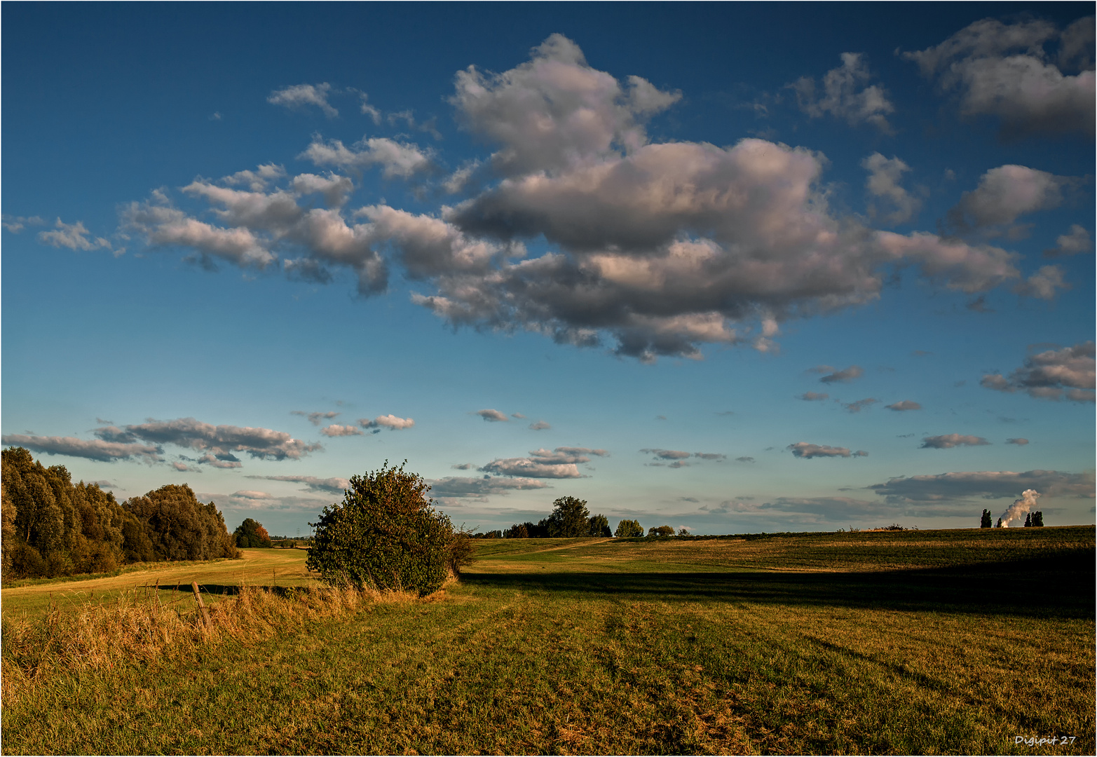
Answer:
<svg viewBox="0 0 1097 757"><path fill-rule="evenodd" d="M416 591L369 587L245 586L210 608L206 625L195 602L163 605L135 589L111 602L88 601L78 612L54 607L44 617L4 618L0 696L14 703L52 671L184 657L228 640L249 645L309 621L353 614L365 603L438 601L443 594L444 588L420 598Z"/></svg>

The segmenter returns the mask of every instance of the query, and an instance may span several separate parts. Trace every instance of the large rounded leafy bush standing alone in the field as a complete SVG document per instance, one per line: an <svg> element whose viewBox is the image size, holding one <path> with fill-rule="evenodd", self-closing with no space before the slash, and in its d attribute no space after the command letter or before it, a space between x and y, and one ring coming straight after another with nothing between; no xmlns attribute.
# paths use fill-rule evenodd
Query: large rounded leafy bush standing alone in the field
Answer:
<svg viewBox="0 0 1097 757"><path fill-rule="evenodd" d="M405 461L406 462L406 461ZM351 476L343 500L324 508L305 566L333 586L428 595L471 562L467 534L427 497L421 476L388 467Z"/></svg>

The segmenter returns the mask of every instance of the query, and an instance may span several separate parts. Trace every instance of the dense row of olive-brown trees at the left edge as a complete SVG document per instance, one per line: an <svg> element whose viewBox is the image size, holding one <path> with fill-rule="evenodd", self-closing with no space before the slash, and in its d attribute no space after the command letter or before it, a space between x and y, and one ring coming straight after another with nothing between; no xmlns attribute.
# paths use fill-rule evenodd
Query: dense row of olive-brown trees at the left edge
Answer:
<svg viewBox="0 0 1097 757"><path fill-rule="evenodd" d="M98 484L72 483L21 448L0 452L0 534L8 578L105 573L135 562L236 557L236 540L213 502L168 484L121 505Z"/></svg>

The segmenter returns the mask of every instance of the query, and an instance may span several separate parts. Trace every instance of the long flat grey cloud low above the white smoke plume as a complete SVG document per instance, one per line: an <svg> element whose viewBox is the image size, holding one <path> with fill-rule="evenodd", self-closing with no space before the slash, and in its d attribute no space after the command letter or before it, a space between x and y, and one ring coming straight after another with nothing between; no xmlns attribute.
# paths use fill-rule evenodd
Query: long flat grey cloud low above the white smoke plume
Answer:
<svg viewBox="0 0 1097 757"><path fill-rule="evenodd" d="M869 488L897 502L1015 498L1025 489L1037 489L1045 497L1093 498L1094 474L1060 471L941 473L898 476Z"/></svg>

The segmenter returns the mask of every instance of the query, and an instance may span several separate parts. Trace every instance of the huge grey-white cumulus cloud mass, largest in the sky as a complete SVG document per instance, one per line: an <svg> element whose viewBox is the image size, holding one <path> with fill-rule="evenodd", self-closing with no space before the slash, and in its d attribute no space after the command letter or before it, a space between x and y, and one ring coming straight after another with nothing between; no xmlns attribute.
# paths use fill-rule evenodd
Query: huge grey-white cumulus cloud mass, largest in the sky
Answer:
<svg viewBox="0 0 1097 757"><path fill-rule="evenodd" d="M455 327L525 329L645 361L700 358L705 344L773 349L782 323L874 301L901 268L965 293L1020 279L999 247L874 230L836 212L827 160L811 149L651 140L648 122L679 97L599 71L553 35L516 68L457 74L450 102L493 151L479 179L462 182L480 189L453 206L354 210L347 176L265 166L184 187L212 218L157 192L124 208L124 226L210 267L281 261L320 283L349 269L362 295L386 291L396 264L412 301ZM302 157L393 179L429 173L432 160L381 137L351 148L317 137ZM905 165L881 156L869 167L890 177L873 191L897 208L892 222L916 210L896 183ZM548 249L531 257L541 241ZM1050 296L1053 284L1044 275L1019 291Z"/></svg>

